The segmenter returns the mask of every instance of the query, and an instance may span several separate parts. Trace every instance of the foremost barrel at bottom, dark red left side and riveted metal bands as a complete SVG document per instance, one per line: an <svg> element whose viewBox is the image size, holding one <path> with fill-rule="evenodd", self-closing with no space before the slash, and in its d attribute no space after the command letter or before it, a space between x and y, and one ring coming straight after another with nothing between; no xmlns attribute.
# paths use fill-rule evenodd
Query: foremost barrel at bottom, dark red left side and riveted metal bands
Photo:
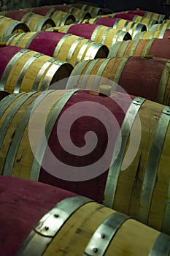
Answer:
<svg viewBox="0 0 170 256"><path fill-rule="evenodd" d="M87 197L9 177L0 189L1 255L169 255L169 236Z"/></svg>

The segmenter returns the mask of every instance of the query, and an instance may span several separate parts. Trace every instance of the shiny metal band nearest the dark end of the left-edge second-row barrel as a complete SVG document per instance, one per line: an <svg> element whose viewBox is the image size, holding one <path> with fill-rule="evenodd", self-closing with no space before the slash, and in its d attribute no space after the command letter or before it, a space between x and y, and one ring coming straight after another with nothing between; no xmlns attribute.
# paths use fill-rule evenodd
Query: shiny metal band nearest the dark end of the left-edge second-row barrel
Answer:
<svg viewBox="0 0 170 256"><path fill-rule="evenodd" d="M46 61L45 64L42 65L41 69L39 69L39 72L36 75L36 78L34 79L34 83L33 83L31 91L39 91L39 83L41 82L42 76L45 74L45 71L51 66L51 64L55 61L56 61L56 59L52 58L52 59ZM51 79L50 75L48 77L47 77L47 75L45 76L45 78L44 78L45 83L41 86L42 87L41 91L44 91L45 89L47 89L48 85L50 84L50 79Z"/></svg>

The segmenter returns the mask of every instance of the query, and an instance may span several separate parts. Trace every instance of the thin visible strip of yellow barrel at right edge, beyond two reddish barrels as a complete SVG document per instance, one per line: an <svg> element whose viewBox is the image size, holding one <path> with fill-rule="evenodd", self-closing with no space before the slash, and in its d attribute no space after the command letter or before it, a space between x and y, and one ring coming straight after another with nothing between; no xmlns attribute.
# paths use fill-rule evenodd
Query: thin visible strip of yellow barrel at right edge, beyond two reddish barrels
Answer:
<svg viewBox="0 0 170 256"><path fill-rule="evenodd" d="M170 29L139 32L132 39L169 38Z"/></svg>

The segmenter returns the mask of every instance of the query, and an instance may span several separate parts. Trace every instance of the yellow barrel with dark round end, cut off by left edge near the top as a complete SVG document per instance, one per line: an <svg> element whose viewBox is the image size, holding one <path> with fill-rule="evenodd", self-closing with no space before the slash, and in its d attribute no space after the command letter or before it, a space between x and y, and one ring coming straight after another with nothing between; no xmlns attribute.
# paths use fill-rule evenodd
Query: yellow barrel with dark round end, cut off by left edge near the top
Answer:
<svg viewBox="0 0 170 256"><path fill-rule="evenodd" d="M28 26L18 20L12 20L4 16L0 16L0 39L4 41L9 34L28 32Z"/></svg>

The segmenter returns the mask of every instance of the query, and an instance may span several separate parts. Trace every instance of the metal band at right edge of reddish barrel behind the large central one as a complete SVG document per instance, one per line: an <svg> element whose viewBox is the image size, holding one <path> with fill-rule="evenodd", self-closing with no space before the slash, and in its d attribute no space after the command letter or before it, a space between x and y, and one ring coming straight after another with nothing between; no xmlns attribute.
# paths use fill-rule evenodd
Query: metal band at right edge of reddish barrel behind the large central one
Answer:
<svg viewBox="0 0 170 256"><path fill-rule="evenodd" d="M169 102L163 102L163 99L165 97L166 87L168 86L169 72L170 72L170 61L167 61L161 75L161 80L158 86L158 94L156 97L156 102L159 102L161 104L169 103Z"/></svg>

